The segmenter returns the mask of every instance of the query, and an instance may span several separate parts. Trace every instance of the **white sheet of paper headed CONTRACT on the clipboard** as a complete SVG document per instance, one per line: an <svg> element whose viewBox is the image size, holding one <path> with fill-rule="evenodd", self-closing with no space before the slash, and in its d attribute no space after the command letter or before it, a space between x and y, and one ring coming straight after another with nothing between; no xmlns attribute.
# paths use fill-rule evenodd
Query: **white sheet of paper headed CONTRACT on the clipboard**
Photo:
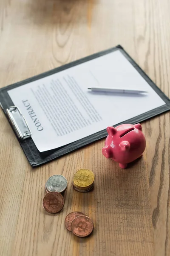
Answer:
<svg viewBox="0 0 170 256"><path fill-rule="evenodd" d="M88 87L146 90L146 95L91 92ZM165 102L119 51L8 90L40 152L87 137Z"/></svg>

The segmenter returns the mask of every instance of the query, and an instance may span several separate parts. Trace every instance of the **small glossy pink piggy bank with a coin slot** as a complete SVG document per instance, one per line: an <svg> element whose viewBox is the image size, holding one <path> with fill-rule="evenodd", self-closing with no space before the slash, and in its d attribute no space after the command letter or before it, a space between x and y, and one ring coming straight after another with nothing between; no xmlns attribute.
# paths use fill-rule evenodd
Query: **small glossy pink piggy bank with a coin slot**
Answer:
<svg viewBox="0 0 170 256"><path fill-rule="evenodd" d="M109 126L107 132L105 147L102 148L102 154L106 158L111 158L121 168L126 168L127 163L142 157L146 140L140 124L123 124L116 128Z"/></svg>

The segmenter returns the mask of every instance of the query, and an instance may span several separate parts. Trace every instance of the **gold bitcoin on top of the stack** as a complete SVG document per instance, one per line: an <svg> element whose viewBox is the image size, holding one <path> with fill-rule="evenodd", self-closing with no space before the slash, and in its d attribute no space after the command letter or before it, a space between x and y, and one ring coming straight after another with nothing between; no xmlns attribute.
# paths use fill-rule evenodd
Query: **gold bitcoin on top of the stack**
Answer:
<svg viewBox="0 0 170 256"><path fill-rule="evenodd" d="M79 188L87 188L94 183L94 173L88 169L80 169L74 174L73 183Z"/></svg>

